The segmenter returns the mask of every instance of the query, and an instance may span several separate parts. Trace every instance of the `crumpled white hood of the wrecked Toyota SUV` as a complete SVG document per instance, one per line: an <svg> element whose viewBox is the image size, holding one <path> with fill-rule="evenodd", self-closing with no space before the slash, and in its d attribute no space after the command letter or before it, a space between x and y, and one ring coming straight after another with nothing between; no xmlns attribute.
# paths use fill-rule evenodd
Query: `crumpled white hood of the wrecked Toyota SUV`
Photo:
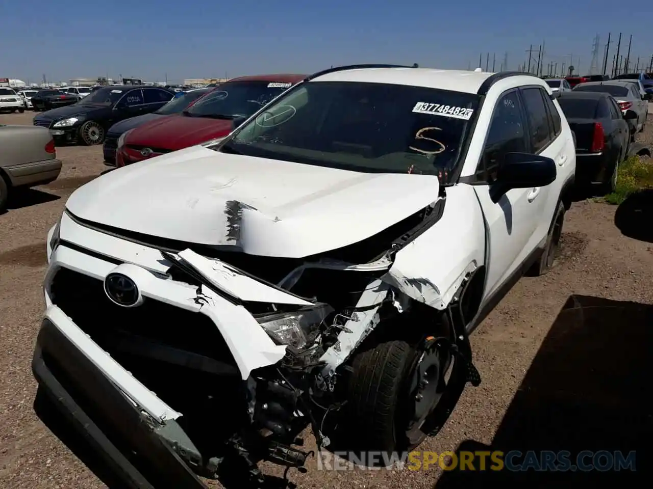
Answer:
<svg viewBox="0 0 653 489"><path fill-rule="evenodd" d="M432 175L358 173L195 146L105 173L75 190L66 207L146 235L302 258L357 243L437 198Z"/></svg>

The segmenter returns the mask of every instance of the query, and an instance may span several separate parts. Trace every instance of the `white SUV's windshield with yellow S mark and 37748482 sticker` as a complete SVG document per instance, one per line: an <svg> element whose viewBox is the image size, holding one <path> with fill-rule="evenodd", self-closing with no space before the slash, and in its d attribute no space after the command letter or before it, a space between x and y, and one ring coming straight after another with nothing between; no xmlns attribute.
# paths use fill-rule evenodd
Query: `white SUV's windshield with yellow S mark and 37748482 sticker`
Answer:
<svg viewBox="0 0 653 489"><path fill-rule="evenodd" d="M458 162L478 104L475 94L425 87L309 82L219 151L368 173L443 175Z"/></svg>

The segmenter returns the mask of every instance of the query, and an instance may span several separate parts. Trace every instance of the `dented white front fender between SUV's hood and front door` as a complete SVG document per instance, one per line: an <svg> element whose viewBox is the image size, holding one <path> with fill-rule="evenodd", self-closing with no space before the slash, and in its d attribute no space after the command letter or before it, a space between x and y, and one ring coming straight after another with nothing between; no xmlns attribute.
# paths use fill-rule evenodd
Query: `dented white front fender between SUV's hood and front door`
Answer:
<svg viewBox="0 0 653 489"><path fill-rule="evenodd" d="M415 301L445 309L468 273L485 263L485 222L469 185L447 188L443 215L406 244L382 280Z"/></svg>

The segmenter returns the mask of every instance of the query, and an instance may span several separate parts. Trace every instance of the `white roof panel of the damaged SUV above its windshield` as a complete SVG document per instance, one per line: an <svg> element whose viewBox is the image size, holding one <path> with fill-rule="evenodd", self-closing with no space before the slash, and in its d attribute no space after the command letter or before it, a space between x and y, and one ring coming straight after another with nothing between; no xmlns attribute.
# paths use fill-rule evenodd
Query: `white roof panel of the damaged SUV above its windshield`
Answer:
<svg viewBox="0 0 653 489"><path fill-rule="evenodd" d="M456 92L477 93L494 73L436 68L355 68L316 76L315 82L368 82L415 85ZM524 74L526 75L526 74Z"/></svg>

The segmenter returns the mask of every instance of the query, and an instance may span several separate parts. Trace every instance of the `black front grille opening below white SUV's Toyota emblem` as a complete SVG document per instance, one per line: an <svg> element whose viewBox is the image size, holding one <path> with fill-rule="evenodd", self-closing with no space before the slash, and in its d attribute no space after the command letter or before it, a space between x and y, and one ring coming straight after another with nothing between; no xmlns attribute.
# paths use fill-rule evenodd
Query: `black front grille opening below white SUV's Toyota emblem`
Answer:
<svg viewBox="0 0 653 489"><path fill-rule="evenodd" d="M106 297L101 280L65 268L57 271L50 290L52 302L108 351L114 336L132 335L235 364L217 326L204 314L150 298L124 308Z"/></svg>

